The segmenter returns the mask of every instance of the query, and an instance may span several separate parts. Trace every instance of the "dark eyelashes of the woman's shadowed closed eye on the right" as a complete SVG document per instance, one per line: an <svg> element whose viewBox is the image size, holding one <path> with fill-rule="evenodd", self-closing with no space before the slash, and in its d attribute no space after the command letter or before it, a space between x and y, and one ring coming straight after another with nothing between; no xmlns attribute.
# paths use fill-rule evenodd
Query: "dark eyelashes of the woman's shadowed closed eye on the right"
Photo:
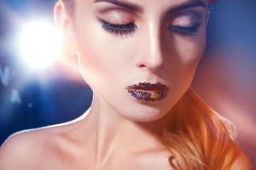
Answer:
<svg viewBox="0 0 256 170"><path fill-rule="evenodd" d="M183 27L183 26L168 26L168 28L171 31L177 32L178 34L181 34L183 36L195 36L196 31L198 30L198 28L201 26L201 23L197 23L195 24L195 26L191 26L191 27Z"/></svg>

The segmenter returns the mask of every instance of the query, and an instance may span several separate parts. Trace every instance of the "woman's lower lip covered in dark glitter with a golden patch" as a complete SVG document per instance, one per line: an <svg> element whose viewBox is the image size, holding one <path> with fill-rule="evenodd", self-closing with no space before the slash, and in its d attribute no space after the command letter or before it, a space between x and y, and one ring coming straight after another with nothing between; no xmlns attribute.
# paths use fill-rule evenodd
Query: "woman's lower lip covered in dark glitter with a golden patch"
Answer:
<svg viewBox="0 0 256 170"><path fill-rule="evenodd" d="M168 91L160 90L140 90L140 89L128 89L128 93L137 100L156 102L165 99Z"/></svg>

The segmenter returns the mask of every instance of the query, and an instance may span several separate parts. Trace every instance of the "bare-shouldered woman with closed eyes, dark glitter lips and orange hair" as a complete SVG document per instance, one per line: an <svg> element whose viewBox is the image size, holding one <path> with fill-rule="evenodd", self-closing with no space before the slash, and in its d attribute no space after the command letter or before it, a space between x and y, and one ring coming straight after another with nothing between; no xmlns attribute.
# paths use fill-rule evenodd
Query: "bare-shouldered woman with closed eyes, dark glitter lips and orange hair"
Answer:
<svg viewBox="0 0 256 170"><path fill-rule="evenodd" d="M230 122L190 88L208 0L62 0L55 23L93 90L73 122L16 133L0 169L250 169Z"/></svg>

